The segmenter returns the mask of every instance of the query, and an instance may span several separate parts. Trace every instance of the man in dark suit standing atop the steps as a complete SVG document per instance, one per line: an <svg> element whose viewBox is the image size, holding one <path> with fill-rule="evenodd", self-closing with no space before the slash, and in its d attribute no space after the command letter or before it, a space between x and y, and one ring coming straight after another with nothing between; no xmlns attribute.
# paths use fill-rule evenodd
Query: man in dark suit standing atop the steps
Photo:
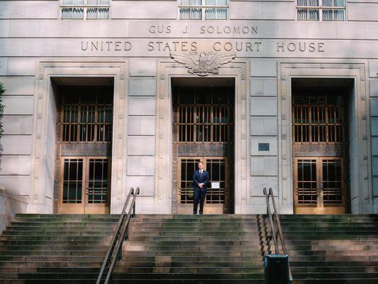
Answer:
<svg viewBox="0 0 378 284"><path fill-rule="evenodd" d="M204 170L204 163L198 163L198 170L193 173L194 207L193 214L197 214L199 201L199 214L204 214L204 202L206 190L209 185L210 175Z"/></svg>

